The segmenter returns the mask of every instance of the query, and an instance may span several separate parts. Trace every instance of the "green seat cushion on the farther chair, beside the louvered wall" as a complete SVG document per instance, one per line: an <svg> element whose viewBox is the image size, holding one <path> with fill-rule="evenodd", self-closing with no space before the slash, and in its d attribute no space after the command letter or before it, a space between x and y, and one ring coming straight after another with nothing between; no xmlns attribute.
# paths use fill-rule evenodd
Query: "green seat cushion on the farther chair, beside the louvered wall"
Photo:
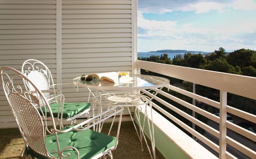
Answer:
<svg viewBox="0 0 256 159"><path fill-rule="evenodd" d="M53 116L55 118L58 117L58 108L59 108L59 103L54 103L54 104L50 104ZM76 114L79 114L87 109L89 109L91 107L91 103L87 103L87 102L83 102L83 103L64 103L63 106L63 119L68 119L71 118L73 116L75 116ZM44 112L44 109L43 109ZM49 116L49 110L46 110L47 112L47 116Z"/></svg>

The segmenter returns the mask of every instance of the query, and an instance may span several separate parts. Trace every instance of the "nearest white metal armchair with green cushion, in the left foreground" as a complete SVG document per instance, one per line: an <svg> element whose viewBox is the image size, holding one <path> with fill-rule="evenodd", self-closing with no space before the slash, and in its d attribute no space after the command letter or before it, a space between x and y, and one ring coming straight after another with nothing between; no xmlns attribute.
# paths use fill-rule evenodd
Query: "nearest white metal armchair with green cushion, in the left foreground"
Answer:
<svg viewBox="0 0 256 159"><path fill-rule="evenodd" d="M109 155L113 158L111 150L117 147L122 107L112 107L82 123L58 130L48 100L30 79L15 69L3 67L0 80L29 157L105 158ZM24 80L33 91L26 89ZM118 114L115 137L90 129Z"/></svg>

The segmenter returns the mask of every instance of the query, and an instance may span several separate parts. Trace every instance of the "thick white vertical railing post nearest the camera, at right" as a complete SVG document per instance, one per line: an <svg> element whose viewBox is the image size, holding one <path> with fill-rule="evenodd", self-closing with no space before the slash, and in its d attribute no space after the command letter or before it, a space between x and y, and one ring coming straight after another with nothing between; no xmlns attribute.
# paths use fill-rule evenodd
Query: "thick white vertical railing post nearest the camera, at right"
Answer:
<svg viewBox="0 0 256 159"><path fill-rule="evenodd" d="M227 91L220 90L220 137L219 137L219 158L226 158L227 148Z"/></svg>

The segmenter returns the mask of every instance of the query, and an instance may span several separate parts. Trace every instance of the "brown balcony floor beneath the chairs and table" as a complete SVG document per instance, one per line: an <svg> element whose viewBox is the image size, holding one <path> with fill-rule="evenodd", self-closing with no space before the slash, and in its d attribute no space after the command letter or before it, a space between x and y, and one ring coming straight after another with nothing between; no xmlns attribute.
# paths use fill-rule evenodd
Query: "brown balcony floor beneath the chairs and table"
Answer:
<svg viewBox="0 0 256 159"><path fill-rule="evenodd" d="M20 158L24 148L23 140L18 129L1 129L0 131L0 158ZM119 144L113 151L113 158L150 158L146 144L143 143L144 151L141 152L141 145L132 122L122 122ZM156 150L156 158L164 158Z"/></svg>

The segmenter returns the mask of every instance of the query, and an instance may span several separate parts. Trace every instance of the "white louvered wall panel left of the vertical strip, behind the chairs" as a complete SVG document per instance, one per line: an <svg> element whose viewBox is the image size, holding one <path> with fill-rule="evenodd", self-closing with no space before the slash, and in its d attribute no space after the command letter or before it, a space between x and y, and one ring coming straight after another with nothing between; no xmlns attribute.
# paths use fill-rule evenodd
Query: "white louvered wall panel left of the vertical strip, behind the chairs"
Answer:
<svg viewBox="0 0 256 159"><path fill-rule="evenodd" d="M55 0L0 0L0 67L20 70L23 61L35 58L56 78L55 29ZM0 127L10 127L14 118L4 94L0 96Z"/></svg>

